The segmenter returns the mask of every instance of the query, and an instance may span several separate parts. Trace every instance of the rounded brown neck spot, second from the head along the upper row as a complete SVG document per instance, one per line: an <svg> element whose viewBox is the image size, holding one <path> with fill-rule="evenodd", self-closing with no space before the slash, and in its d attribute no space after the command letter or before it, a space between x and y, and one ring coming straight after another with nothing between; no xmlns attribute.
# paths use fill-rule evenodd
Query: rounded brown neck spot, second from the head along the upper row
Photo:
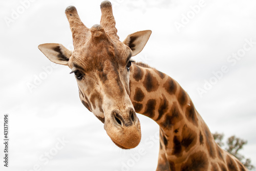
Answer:
<svg viewBox="0 0 256 171"><path fill-rule="evenodd" d="M147 92L156 91L159 87L157 79L152 76L150 71L146 72L145 79L143 81L143 86L147 90Z"/></svg>

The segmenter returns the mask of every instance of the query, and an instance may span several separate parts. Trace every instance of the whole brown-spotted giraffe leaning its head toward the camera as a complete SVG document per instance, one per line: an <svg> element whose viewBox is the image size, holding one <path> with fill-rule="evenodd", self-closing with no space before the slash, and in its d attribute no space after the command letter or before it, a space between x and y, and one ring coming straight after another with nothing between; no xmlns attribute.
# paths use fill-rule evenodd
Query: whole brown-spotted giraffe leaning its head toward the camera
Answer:
<svg viewBox="0 0 256 171"><path fill-rule="evenodd" d="M247 170L215 142L184 89L163 72L131 60L144 48L151 31L119 40L112 5L100 5L100 25L83 25L74 6L66 8L74 50L46 43L39 50L52 62L67 65L77 80L82 104L103 124L121 149L141 139L136 113L156 121L160 130L156 170Z"/></svg>

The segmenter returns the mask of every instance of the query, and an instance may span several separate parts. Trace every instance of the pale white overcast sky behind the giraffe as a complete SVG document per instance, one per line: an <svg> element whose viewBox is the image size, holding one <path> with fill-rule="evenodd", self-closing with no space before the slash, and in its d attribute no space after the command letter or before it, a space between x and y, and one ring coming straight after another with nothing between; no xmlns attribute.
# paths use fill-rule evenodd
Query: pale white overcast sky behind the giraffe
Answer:
<svg viewBox="0 0 256 171"><path fill-rule="evenodd" d="M9 113L8 170L155 170L159 142L152 137L158 133L158 125L138 114L140 145L128 151L119 149L103 124L80 103L70 69L53 68L37 48L47 42L72 47L66 7L74 5L90 28L100 21L101 1L21 3L28 1L0 2L0 126L2 130L3 115ZM192 16L191 6L199 2L114 0L120 40L136 31L152 30L144 50L134 59L176 79L211 132L224 133L225 140L231 135L248 140L241 153L256 166L256 44L250 47L246 42L256 42L256 2L205 1ZM175 23L181 23L187 14L190 19L178 32ZM7 17L13 20L7 23ZM229 57L236 53L242 56L240 60ZM201 97L197 89L203 88L205 80L215 81L212 72L223 66L228 71ZM44 67L52 68L49 74L44 75ZM46 79L30 92L27 84L44 76ZM62 137L68 141L65 145L59 143ZM2 143L0 149L3 154ZM53 156L49 162L44 156L47 153Z"/></svg>

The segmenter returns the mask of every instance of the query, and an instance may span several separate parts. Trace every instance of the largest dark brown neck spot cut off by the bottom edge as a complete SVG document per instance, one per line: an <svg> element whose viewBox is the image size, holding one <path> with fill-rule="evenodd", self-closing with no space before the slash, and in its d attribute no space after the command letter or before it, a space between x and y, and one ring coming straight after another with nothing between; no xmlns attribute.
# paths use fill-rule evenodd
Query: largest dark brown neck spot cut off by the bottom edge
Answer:
<svg viewBox="0 0 256 171"><path fill-rule="evenodd" d="M208 159L204 152L196 152L190 155L187 161L181 165L181 171L205 171L208 169Z"/></svg>

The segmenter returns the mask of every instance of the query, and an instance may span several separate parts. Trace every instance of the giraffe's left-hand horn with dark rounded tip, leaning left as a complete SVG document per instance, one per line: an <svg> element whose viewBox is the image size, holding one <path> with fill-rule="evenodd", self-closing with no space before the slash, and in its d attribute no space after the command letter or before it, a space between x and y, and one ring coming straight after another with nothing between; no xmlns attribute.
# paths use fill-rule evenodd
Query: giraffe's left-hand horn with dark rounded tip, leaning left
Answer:
<svg viewBox="0 0 256 171"><path fill-rule="evenodd" d="M82 23L77 10L74 6L69 6L65 10L66 16L69 21L70 29L73 37L74 48L78 46L78 43L82 42L86 38L89 29Z"/></svg>

